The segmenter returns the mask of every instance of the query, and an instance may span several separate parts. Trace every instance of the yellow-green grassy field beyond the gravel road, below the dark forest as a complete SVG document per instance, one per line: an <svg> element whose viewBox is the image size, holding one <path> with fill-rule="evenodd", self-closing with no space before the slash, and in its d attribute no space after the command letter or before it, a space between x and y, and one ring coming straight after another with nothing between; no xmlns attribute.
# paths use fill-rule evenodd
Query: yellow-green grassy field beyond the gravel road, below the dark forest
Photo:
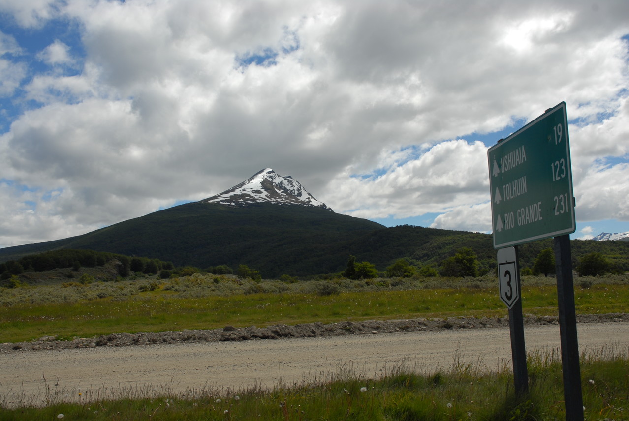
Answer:
<svg viewBox="0 0 629 421"><path fill-rule="evenodd" d="M552 278L525 278L523 312L556 315ZM629 312L626 276L580 278L577 314ZM194 275L87 285L0 288L0 342L233 325L416 317L502 317L495 278L253 282Z"/></svg>

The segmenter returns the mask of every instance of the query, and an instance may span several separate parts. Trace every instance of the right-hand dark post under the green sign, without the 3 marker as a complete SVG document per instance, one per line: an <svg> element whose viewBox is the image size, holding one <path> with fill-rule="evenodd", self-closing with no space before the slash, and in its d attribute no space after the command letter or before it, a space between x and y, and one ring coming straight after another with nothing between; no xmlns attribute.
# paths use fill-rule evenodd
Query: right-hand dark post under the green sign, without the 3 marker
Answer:
<svg viewBox="0 0 629 421"><path fill-rule="evenodd" d="M583 396L581 392L581 368L579 367L579 342L577 341L577 317L574 307L570 236L555 237L554 242L561 362L564 375L565 419L582 421L584 419Z"/></svg>

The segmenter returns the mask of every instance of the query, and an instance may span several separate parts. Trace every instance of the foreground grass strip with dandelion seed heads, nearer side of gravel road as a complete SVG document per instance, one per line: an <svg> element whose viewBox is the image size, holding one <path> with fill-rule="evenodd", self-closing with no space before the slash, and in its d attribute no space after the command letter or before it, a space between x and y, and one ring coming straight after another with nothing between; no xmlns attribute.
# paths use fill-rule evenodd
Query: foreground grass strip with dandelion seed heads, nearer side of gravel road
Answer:
<svg viewBox="0 0 629 421"><path fill-rule="evenodd" d="M629 418L629 350L606 346L581 356L586 420ZM454 358L449 368L418 373L392 368L371 378L352 367L318 373L301 385L266 390L215 388L173 393L169 386L121 390L58 389L0 405L12 420L564 420L562 368L556 351L528 356L530 392L517 396L511 369L486 371ZM0 401L3 396L0 396ZM69 402L71 401L71 402ZM44 406L42 406L44 405Z"/></svg>

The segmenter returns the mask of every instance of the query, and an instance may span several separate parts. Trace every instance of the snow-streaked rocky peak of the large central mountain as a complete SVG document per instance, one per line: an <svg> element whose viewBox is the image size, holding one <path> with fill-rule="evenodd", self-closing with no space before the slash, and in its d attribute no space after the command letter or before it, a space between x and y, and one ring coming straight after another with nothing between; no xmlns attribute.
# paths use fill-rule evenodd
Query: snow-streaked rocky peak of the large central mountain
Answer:
<svg viewBox="0 0 629 421"><path fill-rule="evenodd" d="M232 206L270 202L322 207L331 210L325 203L316 200L290 175L284 177L271 168L264 168L231 189L200 201Z"/></svg>

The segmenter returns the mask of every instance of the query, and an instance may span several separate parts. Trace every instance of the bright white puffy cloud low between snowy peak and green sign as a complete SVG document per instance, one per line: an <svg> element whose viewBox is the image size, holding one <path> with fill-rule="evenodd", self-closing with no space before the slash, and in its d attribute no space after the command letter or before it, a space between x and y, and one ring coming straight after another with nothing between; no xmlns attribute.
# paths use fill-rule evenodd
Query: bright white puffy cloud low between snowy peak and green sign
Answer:
<svg viewBox="0 0 629 421"><path fill-rule="evenodd" d="M326 203L357 217L408 217L489 199L482 142L445 141L420 154L377 177L348 178L354 171L347 168L328 185Z"/></svg>

